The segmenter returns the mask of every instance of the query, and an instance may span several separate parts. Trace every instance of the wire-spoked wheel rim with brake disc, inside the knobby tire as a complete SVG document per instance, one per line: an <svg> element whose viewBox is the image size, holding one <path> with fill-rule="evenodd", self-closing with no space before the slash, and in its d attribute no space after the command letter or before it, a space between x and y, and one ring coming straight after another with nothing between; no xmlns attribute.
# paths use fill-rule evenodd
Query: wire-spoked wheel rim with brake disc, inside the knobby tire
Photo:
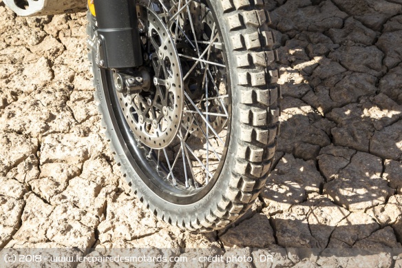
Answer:
<svg viewBox="0 0 402 268"><path fill-rule="evenodd" d="M159 3L138 6L137 12L147 62L159 83L154 83L150 92L125 96L114 90L112 72L105 71L112 106L118 107L115 116L125 118L118 121L118 129L124 132L122 138L142 181L165 200L193 203L218 180L229 145L231 92L222 35L209 8L195 1L171 2L170 7ZM148 20L142 21L145 12ZM153 30L157 34L151 36ZM152 40L164 33L169 37ZM169 41L174 47L165 48L167 68L162 61L166 57L158 55L158 50ZM167 80L170 88L160 86ZM141 120L140 116L152 109L148 118ZM167 116L173 120L163 121ZM169 132L173 125L177 128Z"/></svg>

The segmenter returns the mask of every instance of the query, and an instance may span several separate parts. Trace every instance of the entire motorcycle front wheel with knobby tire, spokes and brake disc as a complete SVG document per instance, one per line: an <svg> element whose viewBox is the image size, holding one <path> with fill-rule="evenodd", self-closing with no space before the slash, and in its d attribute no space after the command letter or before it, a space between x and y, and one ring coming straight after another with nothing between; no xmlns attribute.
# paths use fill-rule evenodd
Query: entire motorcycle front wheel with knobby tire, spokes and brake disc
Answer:
<svg viewBox="0 0 402 268"><path fill-rule="evenodd" d="M118 92L98 68L95 98L114 158L156 216L189 231L221 229L264 187L279 131L277 54L259 0L138 1L152 85ZM89 43L96 17L88 14Z"/></svg>

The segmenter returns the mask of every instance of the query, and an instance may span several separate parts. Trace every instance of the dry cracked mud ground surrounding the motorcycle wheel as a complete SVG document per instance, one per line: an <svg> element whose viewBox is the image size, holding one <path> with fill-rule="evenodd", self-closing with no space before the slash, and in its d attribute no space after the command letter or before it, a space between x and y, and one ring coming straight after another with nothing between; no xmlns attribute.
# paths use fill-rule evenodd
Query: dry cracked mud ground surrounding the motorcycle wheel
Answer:
<svg viewBox="0 0 402 268"><path fill-rule="evenodd" d="M284 96L273 172L239 222L191 234L121 178L85 14L21 18L0 0L0 247L401 248L402 1L266 2ZM279 255L284 267L343 266ZM389 253L365 261L402 267Z"/></svg>

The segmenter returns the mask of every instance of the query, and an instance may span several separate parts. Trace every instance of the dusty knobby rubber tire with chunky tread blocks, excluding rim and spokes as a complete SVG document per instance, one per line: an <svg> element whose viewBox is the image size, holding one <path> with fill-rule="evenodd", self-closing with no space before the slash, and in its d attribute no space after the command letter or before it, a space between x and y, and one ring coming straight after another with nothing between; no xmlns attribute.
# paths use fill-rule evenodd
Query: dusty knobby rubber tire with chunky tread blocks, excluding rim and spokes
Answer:
<svg viewBox="0 0 402 268"><path fill-rule="evenodd" d="M188 231L213 231L233 223L247 209L260 194L264 187L269 170L273 163L273 156L279 134L280 99L282 99L280 87L277 85L279 71L273 68L277 61L277 52L273 50L273 33L268 28L271 23L268 12L264 9L262 0L220 0L217 3L217 14L222 14L223 27L229 34L230 42L225 44L228 54L232 57L237 74L237 81L232 81L232 92L238 94L238 103L233 103L240 110L240 122L235 122L236 146L235 162L229 174L229 186L226 192L222 192L221 198L215 200L215 205L210 206L207 212L196 216L172 216L162 207L156 207L149 202L136 187L136 183L127 172L126 165L116 153L112 143L111 130L105 120L105 113L100 105L98 94L102 88L95 83L99 77L94 77L96 92L95 100L98 110L103 115L102 126L109 146L114 152L114 159L120 165L120 170L127 183L131 185L134 193L151 212L165 220ZM88 12L87 33L93 34L94 18ZM91 48L89 48L91 49ZM88 54L89 61L94 61L92 52ZM92 62L94 76L97 76L97 67ZM234 93L235 92L235 93ZM234 145L233 145L234 144ZM222 174L221 174L222 176Z"/></svg>

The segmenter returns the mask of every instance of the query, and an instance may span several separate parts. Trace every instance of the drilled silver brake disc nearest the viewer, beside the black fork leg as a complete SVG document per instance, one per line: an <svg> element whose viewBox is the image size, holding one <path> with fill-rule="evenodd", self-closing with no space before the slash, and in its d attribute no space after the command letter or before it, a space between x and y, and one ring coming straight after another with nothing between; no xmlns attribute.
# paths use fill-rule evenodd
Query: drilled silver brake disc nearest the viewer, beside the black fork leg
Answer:
<svg viewBox="0 0 402 268"><path fill-rule="evenodd" d="M167 147L176 137L184 105L183 76L175 43L165 23L145 7L137 6L147 36L149 60L154 69L150 92L118 94L126 121L141 143L154 149Z"/></svg>

